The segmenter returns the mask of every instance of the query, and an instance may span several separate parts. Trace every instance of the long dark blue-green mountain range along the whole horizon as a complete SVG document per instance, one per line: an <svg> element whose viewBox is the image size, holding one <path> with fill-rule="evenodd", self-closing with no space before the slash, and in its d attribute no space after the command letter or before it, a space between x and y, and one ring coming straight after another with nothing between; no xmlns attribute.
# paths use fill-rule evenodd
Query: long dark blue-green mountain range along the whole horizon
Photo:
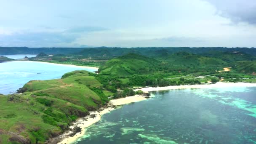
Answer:
<svg viewBox="0 0 256 144"><path fill-rule="evenodd" d="M166 47L166 48L27 48L27 47L0 47L0 54L38 54L40 52L46 54L76 54L86 57L103 57L112 58L116 56L123 56L128 53L137 53L149 57L167 56L168 54L178 52L188 52L194 54L209 53L212 51L219 52L243 52L256 56L256 48L189 48L189 47Z"/></svg>

